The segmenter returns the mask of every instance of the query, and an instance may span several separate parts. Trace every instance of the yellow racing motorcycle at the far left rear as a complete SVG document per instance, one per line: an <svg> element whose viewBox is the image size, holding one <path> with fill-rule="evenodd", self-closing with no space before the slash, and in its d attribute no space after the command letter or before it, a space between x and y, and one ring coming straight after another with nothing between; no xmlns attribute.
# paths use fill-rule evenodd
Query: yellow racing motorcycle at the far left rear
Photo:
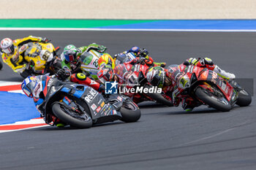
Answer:
<svg viewBox="0 0 256 170"><path fill-rule="evenodd" d="M29 42L20 48L27 48L24 52L26 68L20 72L24 78L45 73L55 74L61 69L61 59L57 56L59 47L51 43Z"/></svg>

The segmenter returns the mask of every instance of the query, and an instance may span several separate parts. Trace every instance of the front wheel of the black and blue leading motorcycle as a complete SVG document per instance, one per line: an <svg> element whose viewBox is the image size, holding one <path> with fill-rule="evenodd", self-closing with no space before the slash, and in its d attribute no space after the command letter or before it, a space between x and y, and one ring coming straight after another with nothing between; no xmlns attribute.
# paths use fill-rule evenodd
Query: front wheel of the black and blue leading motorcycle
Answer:
<svg viewBox="0 0 256 170"><path fill-rule="evenodd" d="M84 112L83 115L78 115L77 112L73 112L67 109L67 107L65 109L64 107L65 107L64 105L57 102L53 103L53 106L52 106L54 115L56 115L56 117L58 117L61 121L75 128L91 128L92 126L91 116L89 116L86 112ZM67 112L72 112L72 114L75 114L78 117L73 117L71 113L67 113Z"/></svg>

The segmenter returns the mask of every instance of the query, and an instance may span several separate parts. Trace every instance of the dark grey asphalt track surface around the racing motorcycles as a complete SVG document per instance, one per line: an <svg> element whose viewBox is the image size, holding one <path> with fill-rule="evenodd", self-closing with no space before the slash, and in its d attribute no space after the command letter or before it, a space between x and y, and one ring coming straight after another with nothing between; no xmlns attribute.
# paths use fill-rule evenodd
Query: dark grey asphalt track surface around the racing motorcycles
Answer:
<svg viewBox="0 0 256 170"><path fill-rule="evenodd" d="M62 47L97 42L110 54L138 45L167 64L208 56L238 78L256 76L255 33L0 31L1 38L29 35L47 36ZM0 80L22 79L4 66ZM256 169L255 96L252 100L230 112L198 107L187 113L146 103L140 104L137 123L0 134L0 169Z"/></svg>

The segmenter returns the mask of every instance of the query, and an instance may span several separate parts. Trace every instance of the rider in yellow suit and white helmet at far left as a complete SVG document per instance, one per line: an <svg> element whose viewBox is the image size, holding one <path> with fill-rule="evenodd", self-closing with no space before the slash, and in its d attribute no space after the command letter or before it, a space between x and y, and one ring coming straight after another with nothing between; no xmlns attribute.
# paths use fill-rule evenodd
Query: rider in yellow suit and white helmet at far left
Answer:
<svg viewBox="0 0 256 170"><path fill-rule="evenodd" d="M4 63L12 68L14 72L22 73L26 69L27 63L24 63L24 52L26 45L29 42L42 42L48 43L50 39L42 38L38 36L28 36L23 39L15 39L12 41L10 38L4 38L1 40L1 58Z"/></svg>

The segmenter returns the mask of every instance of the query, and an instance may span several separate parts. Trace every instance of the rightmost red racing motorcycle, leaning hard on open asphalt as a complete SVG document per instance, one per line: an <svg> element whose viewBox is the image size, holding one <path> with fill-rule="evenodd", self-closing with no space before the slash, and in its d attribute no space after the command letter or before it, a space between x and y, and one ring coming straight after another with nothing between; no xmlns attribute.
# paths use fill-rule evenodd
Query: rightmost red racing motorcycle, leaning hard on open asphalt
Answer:
<svg viewBox="0 0 256 170"><path fill-rule="evenodd" d="M246 107L252 102L252 96L237 82L225 80L209 69L181 64L168 66L168 71L176 81L173 98L186 101L184 108L187 104L192 107L204 104L228 112L235 104Z"/></svg>

